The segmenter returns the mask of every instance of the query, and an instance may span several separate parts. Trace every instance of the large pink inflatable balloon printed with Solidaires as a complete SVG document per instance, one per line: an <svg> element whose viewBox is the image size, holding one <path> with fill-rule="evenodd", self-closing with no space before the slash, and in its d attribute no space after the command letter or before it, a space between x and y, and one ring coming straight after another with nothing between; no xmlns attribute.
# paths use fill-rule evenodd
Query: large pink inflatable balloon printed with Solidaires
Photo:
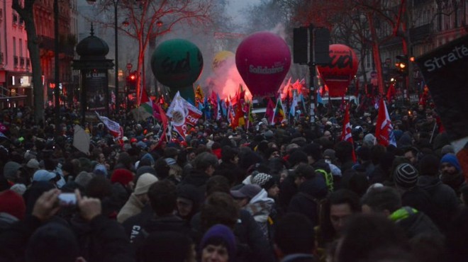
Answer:
<svg viewBox="0 0 468 262"><path fill-rule="evenodd" d="M243 40L235 65L253 96L277 93L291 66L291 52L278 35L258 32Z"/></svg>

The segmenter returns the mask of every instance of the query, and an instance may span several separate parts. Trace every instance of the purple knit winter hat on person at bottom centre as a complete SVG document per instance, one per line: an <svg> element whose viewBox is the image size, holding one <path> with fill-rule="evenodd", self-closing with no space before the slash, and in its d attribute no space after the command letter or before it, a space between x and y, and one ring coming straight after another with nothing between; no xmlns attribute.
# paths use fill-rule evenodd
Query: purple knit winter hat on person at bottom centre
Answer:
<svg viewBox="0 0 468 262"><path fill-rule="evenodd" d="M229 261L234 261L235 256L235 237L233 231L226 227L224 224L215 224L208 229L200 242L200 250L203 250L209 244L219 245L220 240L224 242L226 249L228 249Z"/></svg>

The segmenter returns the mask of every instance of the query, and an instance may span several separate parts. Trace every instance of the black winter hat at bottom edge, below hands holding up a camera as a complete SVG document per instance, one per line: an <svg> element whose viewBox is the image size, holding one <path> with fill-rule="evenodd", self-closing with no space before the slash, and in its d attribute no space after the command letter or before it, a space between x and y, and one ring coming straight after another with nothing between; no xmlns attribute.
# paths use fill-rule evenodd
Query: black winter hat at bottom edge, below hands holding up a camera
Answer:
<svg viewBox="0 0 468 262"><path fill-rule="evenodd" d="M26 248L26 261L75 261L79 245L72 230L57 222L38 228L30 237Z"/></svg>

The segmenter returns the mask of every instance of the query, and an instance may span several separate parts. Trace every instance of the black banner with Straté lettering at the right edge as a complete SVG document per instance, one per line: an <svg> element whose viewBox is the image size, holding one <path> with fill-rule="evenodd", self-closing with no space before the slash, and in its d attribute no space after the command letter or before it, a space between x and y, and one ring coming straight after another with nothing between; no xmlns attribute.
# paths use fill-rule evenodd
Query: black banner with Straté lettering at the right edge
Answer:
<svg viewBox="0 0 468 262"><path fill-rule="evenodd" d="M418 57L416 62L459 163L468 163L468 35ZM462 169L468 174L468 166Z"/></svg>

